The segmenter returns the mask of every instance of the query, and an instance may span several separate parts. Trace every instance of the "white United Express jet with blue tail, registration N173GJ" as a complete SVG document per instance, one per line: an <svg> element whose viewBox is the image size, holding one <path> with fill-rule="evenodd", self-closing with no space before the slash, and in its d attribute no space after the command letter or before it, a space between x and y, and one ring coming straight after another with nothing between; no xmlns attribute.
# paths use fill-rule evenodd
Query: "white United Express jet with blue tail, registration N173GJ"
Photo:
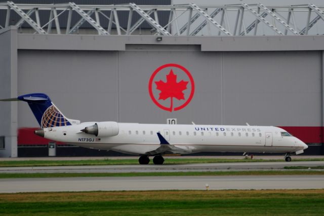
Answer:
<svg viewBox="0 0 324 216"><path fill-rule="evenodd" d="M70 145L139 155L140 164L163 164L165 154L244 152L302 154L308 146L286 130L250 125L171 125L118 122L84 122L66 118L44 93L0 101L28 103L42 129L38 136Z"/></svg>

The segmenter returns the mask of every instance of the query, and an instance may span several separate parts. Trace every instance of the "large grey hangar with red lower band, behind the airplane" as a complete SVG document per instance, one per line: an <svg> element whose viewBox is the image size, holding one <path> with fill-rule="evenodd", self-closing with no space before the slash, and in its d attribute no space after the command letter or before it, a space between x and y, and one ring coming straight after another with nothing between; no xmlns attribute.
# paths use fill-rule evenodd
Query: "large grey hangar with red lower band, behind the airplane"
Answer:
<svg viewBox="0 0 324 216"><path fill-rule="evenodd" d="M44 92L82 122L280 126L324 154L324 6L62 2L0 3L0 98ZM182 99L159 98L171 70ZM1 157L47 150L26 103L0 107Z"/></svg>

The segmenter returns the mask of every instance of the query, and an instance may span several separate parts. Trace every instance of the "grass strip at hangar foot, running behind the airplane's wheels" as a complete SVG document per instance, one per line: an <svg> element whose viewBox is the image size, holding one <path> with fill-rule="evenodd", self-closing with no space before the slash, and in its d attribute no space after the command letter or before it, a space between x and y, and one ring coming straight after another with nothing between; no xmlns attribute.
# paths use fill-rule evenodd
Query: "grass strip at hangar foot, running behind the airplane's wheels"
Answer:
<svg viewBox="0 0 324 216"><path fill-rule="evenodd" d="M283 162L282 160L263 160L263 159L212 159L212 158L166 158L164 164L188 164L188 163L234 163L234 162ZM318 159L294 159L294 161L324 161L324 158ZM152 162L151 162L152 163ZM84 165L131 165L138 164L137 159L104 159L104 160L65 160L65 161L0 161L0 167L22 167L22 166L84 166Z"/></svg>

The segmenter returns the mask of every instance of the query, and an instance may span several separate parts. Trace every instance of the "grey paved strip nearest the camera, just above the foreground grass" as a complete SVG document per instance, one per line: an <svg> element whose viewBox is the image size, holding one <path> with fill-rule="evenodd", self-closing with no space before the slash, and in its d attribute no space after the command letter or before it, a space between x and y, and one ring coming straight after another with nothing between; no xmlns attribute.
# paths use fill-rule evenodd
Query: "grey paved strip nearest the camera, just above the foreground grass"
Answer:
<svg viewBox="0 0 324 216"><path fill-rule="evenodd" d="M324 175L159 176L0 179L0 193L124 190L321 189Z"/></svg>

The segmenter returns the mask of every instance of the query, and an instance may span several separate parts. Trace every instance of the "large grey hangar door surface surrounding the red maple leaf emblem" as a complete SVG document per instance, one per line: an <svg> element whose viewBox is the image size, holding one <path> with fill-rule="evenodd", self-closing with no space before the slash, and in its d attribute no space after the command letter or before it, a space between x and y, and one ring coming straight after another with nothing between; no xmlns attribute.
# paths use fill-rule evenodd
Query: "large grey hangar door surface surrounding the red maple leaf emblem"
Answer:
<svg viewBox="0 0 324 216"><path fill-rule="evenodd" d="M148 92L153 71L171 62L186 67L195 81L192 101L172 113L159 109ZM118 52L18 52L18 94L48 93L67 117L82 121L166 123L177 118L185 124L321 126L320 77L318 51L201 52L196 46L156 51L142 46ZM187 98L189 90L184 93ZM169 99L160 102L170 104ZM19 103L18 117L19 127L36 126L27 104Z"/></svg>

